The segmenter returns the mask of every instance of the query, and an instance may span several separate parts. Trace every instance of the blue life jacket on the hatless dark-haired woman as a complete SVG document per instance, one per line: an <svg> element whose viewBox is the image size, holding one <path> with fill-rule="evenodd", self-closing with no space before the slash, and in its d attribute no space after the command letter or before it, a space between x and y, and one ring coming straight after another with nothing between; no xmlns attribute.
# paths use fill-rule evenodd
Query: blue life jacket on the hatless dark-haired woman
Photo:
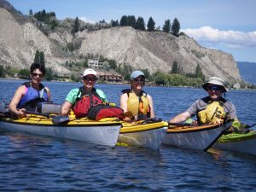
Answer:
<svg viewBox="0 0 256 192"><path fill-rule="evenodd" d="M38 107L39 102L47 102L48 95L44 84L39 84L40 90L32 88L31 82L22 85L26 87L26 93L21 97L18 108L25 108L27 111L34 111Z"/></svg>

